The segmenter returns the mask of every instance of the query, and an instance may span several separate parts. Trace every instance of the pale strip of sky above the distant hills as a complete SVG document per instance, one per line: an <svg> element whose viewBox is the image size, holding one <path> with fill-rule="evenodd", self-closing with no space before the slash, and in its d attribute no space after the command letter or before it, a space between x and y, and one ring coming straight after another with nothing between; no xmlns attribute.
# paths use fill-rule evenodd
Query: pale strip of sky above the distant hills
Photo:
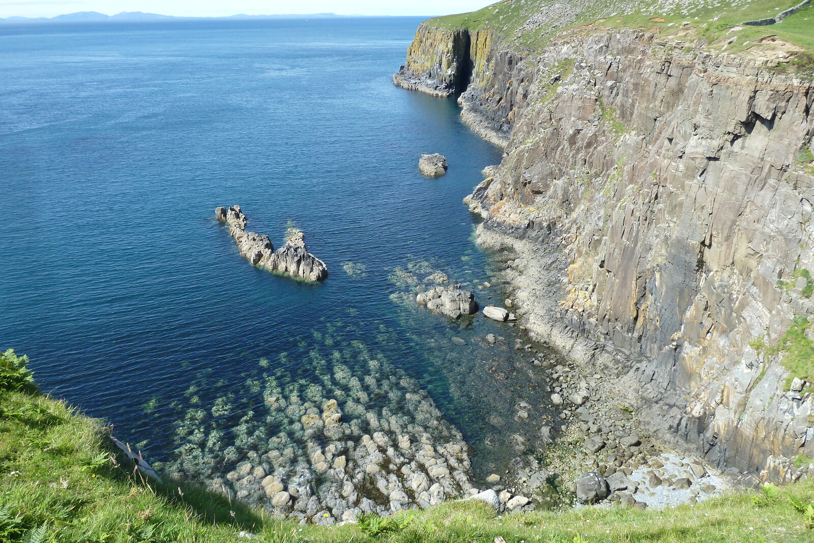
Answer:
<svg viewBox="0 0 814 543"><path fill-rule="evenodd" d="M277 15L323 13L339 15L445 15L478 10L497 0L0 0L0 17L53 17L74 11L145 11L161 15L217 17L246 13Z"/></svg>

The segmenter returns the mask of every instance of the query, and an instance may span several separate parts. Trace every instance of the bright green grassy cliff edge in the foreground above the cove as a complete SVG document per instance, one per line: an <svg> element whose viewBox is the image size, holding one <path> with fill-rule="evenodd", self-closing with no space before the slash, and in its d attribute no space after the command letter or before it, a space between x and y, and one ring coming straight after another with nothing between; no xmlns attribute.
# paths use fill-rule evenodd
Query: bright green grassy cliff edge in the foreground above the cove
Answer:
<svg viewBox="0 0 814 543"><path fill-rule="evenodd" d="M300 526L194 484L143 480L114 453L102 423L42 396L24 366L23 357L0 355L0 541L812 541L810 482L663 511L585 508L501 518L485 504L453 501L405 512L400 522ZM810 515L798 510L809 504Z"/></svg>

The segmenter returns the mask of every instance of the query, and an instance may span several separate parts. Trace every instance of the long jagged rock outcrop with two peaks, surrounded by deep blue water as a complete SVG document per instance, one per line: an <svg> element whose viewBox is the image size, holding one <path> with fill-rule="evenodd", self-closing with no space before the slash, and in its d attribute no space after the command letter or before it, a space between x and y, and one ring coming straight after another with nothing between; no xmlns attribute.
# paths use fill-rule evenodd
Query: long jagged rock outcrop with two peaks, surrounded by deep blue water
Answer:
<svg viewBox="0 0 814 543"><path fill-rule="evenodd" d="M240 256L252 265L309 281L322 281L328 276L325 262L305 247L305 234L301 230L289 230L286 243L275 252L269 236L246 230L246 215L239 205L216 208L215 216L229 225L229 234L238 244Z"/></svg>

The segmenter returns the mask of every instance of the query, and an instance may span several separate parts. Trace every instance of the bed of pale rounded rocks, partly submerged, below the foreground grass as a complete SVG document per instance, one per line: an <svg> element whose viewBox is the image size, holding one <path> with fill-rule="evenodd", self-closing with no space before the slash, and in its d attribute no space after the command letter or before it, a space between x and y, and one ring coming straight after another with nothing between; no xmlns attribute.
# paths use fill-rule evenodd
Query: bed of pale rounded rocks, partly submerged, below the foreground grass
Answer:
<svg viewBox="0 0 814 543"><path fill-rule="evenodd" d="M302 379L281 366L257 381L263 401L231 430L234 439L230 423L190 409L168 473L320 524L471 493L466 442L418 381L361 342L328 358L314 350L308 362L314 373Z"/></svg>

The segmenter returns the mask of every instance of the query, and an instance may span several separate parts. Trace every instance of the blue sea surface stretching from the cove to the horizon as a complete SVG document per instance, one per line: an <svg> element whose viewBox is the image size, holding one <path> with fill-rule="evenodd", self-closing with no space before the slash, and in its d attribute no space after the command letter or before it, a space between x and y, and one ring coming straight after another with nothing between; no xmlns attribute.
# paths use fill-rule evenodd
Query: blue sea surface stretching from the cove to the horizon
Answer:
<svg viewBox="0 0 814 543"><path fill-rule="evenodd" d="M419 22L0 27L0 348L171 461L188 409L230 398L228 441L269 366L317 379L313 353L360 342L431 393L476 471L497 469L515 404L540 393L495 377L527 364L514 329L410 300L440 271L502 304L462 205L501 150L454 99L392 85ZM418 172L431 152L446 176ZM215 221L230 204L275 247L304 230L329 278L253 268ZM503 350L484 347L489 333Z"/></svg>

